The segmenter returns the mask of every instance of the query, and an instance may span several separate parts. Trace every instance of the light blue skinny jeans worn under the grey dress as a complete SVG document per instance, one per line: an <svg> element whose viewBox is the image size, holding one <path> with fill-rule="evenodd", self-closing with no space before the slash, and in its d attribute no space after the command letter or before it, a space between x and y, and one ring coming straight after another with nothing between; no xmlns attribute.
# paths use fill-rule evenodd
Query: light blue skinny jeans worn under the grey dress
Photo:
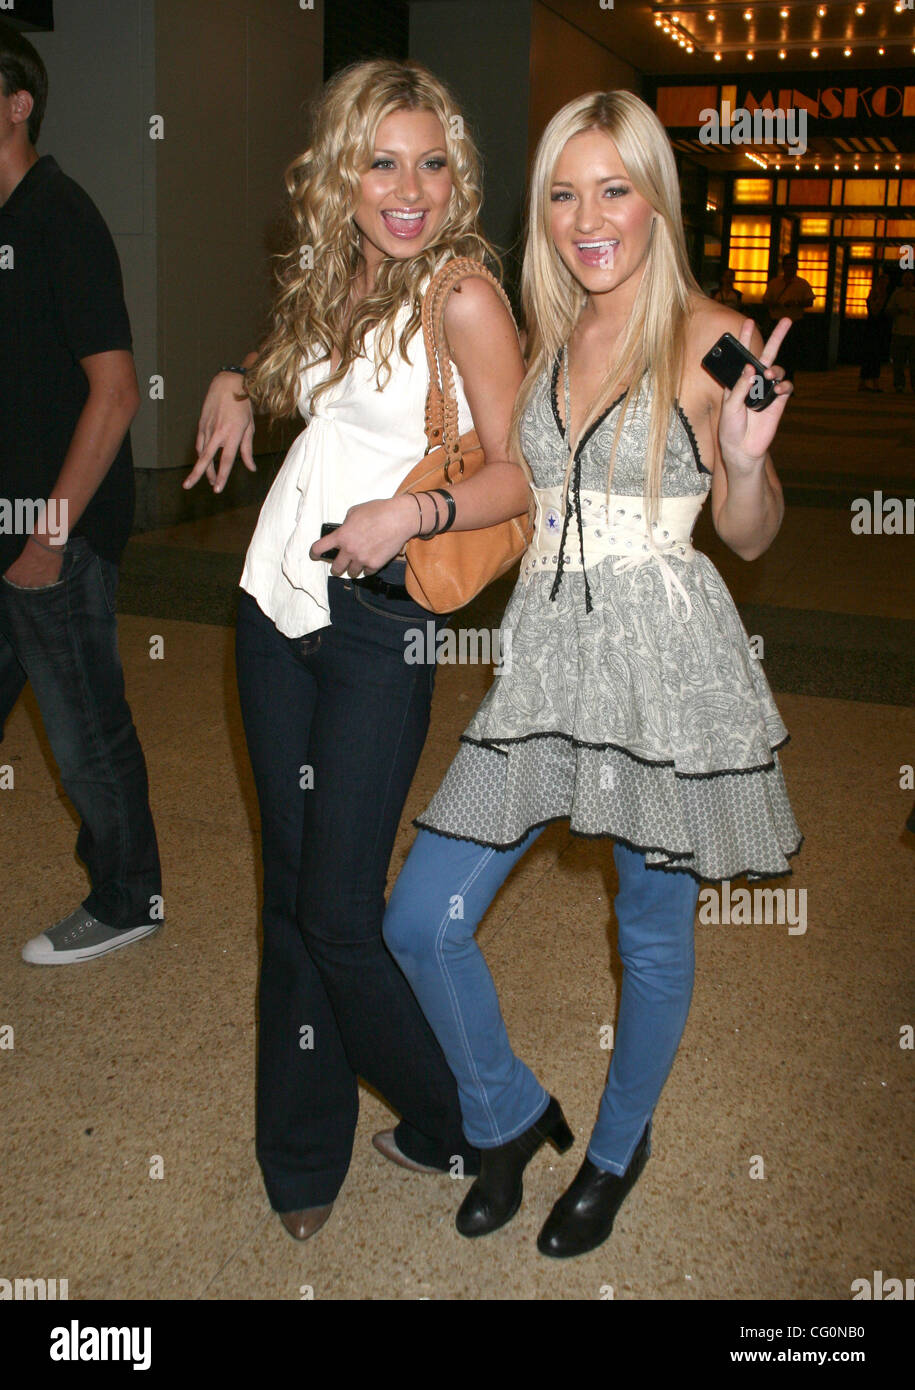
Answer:
<svg viewBox="0 0 915 1390"><path fill-rule="evenodd" d="M515 1138L549 1104L546 1090L512 1051L492 976L474 941L492 898L541 828L515 849L420 830L385 916L385 941L458 1077L464 1134L477 1148ZM699 885L688 873L647 867L644 855L626 845L616 844L613 856L623 987L588 1158L605 1172L624 1173L690 1012Z"/></svg>

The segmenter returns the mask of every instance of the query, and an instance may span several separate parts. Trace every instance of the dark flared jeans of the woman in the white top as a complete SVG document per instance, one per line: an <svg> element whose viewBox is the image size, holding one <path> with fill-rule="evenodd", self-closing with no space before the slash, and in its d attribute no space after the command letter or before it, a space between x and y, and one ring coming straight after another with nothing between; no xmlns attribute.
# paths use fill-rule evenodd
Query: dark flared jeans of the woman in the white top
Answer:
<svg viewBox="0 0 915 1390"><path fill-rule="evenodd" d="M402 582L403 566L382 577ZM260 802L264 902L257 1159L275 1211L337 1197L357 1077L419 1162L478 1172L458 1087L381 937L394 840L428 728L435 666L405 660L430 613L330 580L331 626L284 637L250 595L238 687ZM444 619L441 624L444 626Z"/></svg>

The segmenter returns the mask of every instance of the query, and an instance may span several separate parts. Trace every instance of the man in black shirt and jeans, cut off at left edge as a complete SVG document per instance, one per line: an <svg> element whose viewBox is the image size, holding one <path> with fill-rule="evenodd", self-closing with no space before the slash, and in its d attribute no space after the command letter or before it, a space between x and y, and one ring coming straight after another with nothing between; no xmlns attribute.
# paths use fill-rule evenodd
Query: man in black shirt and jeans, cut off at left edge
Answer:
<svg viewBox="0 0 915 1390"><path fill-rule="evenodd" d="M161 876L114 617L133 516L131 327L102 215L35 150L46 96L39 54L0 25L0 737L29 680L92 891L22 956L68 965L154 931Z"/></svg>

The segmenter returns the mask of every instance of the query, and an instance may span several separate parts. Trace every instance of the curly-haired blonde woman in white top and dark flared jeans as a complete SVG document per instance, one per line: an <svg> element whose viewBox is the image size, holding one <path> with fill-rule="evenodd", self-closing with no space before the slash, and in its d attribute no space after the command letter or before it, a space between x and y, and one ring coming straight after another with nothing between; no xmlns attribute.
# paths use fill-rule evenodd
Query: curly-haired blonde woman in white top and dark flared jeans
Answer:
<svg viewBox="0 0 915 1390"><path fill-rule="evenodd" d="M460 113L412 63L338 74L286 186L296 227L273 331L246 360L246 393L239 375L214 378L185 485L206 473L221 491L239 449L253 467L248 396L306 418L248 552L236 635L264 862L257 1158L271 1205L305 1240L346 1175L357 1076L400 1115L375 1136L388 1158L448 1172L460 1154L478 1172L453 1077L381 923L435 674L405 660L406 630L431 614L406 596L395 557L448 521L441 498L394 496L426 452L421 299L439 264L489 247ZM510 316L480 279L451 295L445 332L460 428L477 430L487 456L453 488L453 527L473 530L527 506L508 457L524 367Z"/></svg>

